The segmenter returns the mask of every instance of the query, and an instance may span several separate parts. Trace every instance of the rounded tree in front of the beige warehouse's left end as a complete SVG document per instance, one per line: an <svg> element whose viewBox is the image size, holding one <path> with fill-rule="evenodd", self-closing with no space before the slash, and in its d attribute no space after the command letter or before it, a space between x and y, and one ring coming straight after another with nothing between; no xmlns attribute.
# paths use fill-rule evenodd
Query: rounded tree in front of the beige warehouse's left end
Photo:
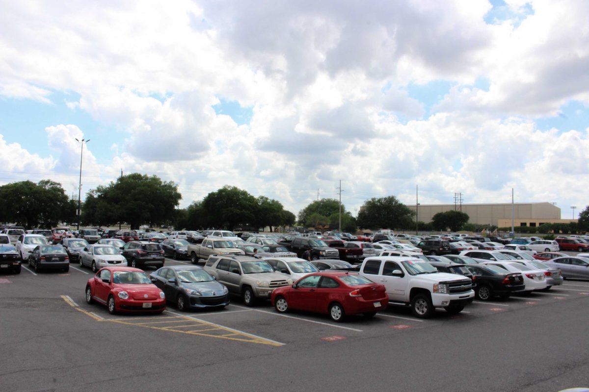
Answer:
<svg viewBox="0 0 589 392"><path fill-rule="evenodd" d="M415 227L415 213L395 196L366 200L358 213L358 225L368 229Z"/></svg>

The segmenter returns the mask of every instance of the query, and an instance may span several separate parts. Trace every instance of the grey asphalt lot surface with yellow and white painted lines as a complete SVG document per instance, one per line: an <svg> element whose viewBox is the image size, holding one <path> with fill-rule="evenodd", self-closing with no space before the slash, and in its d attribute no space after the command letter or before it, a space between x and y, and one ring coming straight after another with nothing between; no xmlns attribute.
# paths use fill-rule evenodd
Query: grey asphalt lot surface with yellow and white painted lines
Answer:
<svg viewBox="0 0 589 392"><path fill-rule="evenodd" d="M167 264L190 264L167 259ZM6 391L478 390L589 385L589 282L416 319L221 311L111 316L84 298L88 269L0 276ZM377 377L378 376L378 377Z"/></svg>

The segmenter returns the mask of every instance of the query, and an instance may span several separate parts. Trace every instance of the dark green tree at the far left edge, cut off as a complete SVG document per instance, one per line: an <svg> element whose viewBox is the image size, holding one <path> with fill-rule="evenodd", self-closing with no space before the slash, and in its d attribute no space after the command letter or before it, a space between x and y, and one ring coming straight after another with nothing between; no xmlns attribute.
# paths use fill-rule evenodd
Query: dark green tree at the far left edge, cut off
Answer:
<svg viewBox="0 0 589 392"><path fill-rule="evenodd" d="M14 182L0 186L0 221L25 227L57 225L71 214L61 185L52 180Z"/></svg>

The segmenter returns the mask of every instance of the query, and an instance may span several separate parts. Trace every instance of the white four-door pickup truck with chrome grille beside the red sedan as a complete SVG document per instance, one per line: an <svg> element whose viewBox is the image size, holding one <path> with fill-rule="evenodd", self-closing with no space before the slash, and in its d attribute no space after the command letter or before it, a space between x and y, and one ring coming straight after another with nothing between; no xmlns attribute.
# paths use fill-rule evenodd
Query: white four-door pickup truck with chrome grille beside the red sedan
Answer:
<svg viewBox="0 0 589 392"><path fill-rule="evenodd" d="M436 307L459 313L475 296L470 279L438 272L416 257L368 257L362 262L360 275L383 284L389 304L409 305L422 319L431 317Z"/></svg>

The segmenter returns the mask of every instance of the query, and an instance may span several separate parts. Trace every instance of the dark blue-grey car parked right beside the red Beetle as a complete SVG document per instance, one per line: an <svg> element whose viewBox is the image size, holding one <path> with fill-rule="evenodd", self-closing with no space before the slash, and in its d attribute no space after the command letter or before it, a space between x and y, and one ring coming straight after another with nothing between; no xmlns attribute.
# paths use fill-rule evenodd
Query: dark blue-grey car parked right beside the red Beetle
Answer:
<svg viewBox="0 0 589 392"><path fill-rule="evenodd" d="M229 290L198 266L161 267L150 274L151 282L180 311L221 309L229 305Z"/></svg>

